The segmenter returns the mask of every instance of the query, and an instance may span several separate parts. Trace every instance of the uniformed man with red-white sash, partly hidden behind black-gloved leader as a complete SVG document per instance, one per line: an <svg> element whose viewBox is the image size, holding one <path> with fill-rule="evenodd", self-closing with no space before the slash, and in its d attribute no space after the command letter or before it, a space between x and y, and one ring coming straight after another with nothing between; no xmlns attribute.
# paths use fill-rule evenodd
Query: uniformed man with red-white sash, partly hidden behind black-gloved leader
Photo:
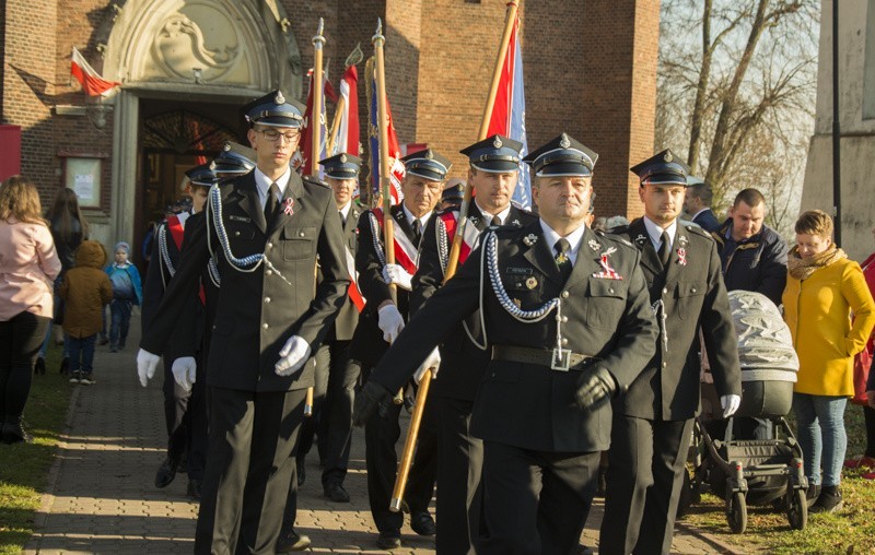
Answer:
<svg viewBox="0 0 875 555"><path fill-rule="evenodd" d="M522 227L537 222L536 215L511 204L520 173L522 146L517 141L497 134L462 151L470 161L468 182L474 188L474 199L468 205L465 247L460 251L459 265L465 263L480 233L488 226ZM443 284L457 222L458 209L447 210L431 219L425 228L419 271L413 278L413 292L410 295L412 314ZM475 314L464 326L458 324L450 339L441 344L441 379L431 386L431 394L434 395L431 405L438 412L440 437L440 494L435 511L438 553L472 553L476 547L483 445L470 435L470 416L477 388L490 359L490 353L480 342L479 315Z"/></svg>

